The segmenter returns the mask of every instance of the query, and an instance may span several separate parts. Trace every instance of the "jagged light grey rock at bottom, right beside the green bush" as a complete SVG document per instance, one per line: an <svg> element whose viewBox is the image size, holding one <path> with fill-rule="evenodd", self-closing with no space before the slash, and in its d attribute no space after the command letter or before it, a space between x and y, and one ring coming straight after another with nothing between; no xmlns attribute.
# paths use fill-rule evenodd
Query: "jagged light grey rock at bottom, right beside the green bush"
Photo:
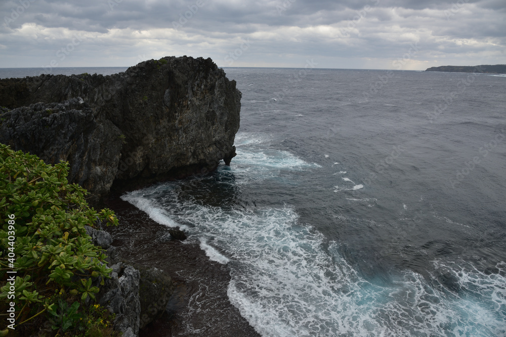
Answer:
<svg viewBox="0 0 506 337"><path fill-rule="evenodd" d="M132 266L112 266L111 278L105 280L98 294L98 303L116 314L114 326L123 335L139 334L141 305L139 283L141 274ZM119 277L118 277L119 275Z"/></svg>

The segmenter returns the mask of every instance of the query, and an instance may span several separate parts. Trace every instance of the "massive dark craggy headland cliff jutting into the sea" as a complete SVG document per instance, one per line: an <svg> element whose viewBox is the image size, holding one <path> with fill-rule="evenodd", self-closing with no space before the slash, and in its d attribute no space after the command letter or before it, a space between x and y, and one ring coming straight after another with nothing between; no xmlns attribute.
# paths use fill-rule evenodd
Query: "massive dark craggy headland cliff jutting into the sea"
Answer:
<svg viewBox="0 0 506 337"><path fill-rule="evenodd" d="M165 57L111 76L2 79L0 106L13 110L0 115L0 142L50 163L68 160L69 181L93 202L111 186L230 164L240 99L235 81L202 58Z"/></svg>

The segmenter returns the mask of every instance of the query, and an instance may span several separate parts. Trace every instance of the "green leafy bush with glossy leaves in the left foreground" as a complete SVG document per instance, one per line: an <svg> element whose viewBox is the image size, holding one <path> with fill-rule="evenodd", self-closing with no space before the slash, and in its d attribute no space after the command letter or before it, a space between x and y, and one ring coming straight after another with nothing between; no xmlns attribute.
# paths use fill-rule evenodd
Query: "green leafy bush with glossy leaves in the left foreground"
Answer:
<svg viewBox="0 0 506 337"><path fill-rule="evenodd" d="M55 292L81 303L94 300L112 271L85 225L94 226L98 220L117 225L117 219L108 209L97 212L89 207L87 191L68 183L68 170L66 162L48 165L0 144L0 285L4 285L0 312L7 312L8 302L15 302L16 331L28 328L30 320L47 320L48 312L40 315L45 311L54 316L57 304L64 306L56 303ZM15 300L8 299L5 280L14 274L7 271L16 271ZM69 307L75 308L74 315L77 307ZM61 332L67 325L61 326Z"/></svg>

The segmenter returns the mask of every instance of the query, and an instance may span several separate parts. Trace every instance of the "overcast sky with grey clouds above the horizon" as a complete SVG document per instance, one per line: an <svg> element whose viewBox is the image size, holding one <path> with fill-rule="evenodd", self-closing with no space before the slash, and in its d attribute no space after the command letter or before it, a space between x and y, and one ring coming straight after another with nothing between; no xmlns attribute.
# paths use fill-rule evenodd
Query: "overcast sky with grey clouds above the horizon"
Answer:
<svg viewBox="0 0 506 337"><path fill-rule="evenodd" d="M0 0L0 68L506 64L505 0Z"/></svg>

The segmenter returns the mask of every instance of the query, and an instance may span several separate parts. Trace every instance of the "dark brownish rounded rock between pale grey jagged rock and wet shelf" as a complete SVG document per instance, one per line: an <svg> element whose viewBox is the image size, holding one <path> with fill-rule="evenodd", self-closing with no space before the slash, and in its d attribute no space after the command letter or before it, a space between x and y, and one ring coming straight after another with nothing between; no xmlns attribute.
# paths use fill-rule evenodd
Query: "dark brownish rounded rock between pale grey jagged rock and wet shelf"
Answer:
<svg viewBox="0 0 506 337"><path fill-rule="evenodd" d="M167 302L174 292L174 283L172 278L160 269L139 268L139 271L141 273L139 287L140 328L142 329L163 314Z"/></svg>

